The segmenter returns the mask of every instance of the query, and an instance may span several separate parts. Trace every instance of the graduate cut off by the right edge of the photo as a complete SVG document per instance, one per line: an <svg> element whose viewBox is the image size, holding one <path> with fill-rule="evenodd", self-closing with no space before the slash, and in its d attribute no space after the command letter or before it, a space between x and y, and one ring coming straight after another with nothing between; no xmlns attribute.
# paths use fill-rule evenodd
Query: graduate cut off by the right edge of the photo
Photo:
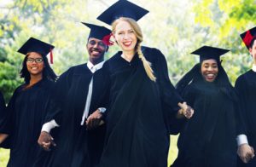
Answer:
<svg viewBox="0 0 256 167"><path fill-rule="evenodd" d="M246 124L246 133L237 137L237 153L243 162L239 160L238 166L256 166L253 150L256 148L256 113L253 105L256 99L256 27L241 33L241 39L253 58L253 67L241 74L235 85L240 98L241 115Z"/></svg>

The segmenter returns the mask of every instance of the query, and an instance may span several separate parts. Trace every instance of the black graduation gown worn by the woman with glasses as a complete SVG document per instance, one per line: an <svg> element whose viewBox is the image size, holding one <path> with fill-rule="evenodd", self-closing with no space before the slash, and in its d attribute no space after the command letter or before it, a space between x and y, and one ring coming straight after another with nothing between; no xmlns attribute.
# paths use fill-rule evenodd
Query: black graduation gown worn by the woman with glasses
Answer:
<svg viewBox="0 0 256 167"><path fill-rule="evenodd" d="M21 85L8 105L8 124L10 156L9 167L32 166L40 147L38 136L48 111L51 91L54 83L42 79L29 89Z"/></svg>

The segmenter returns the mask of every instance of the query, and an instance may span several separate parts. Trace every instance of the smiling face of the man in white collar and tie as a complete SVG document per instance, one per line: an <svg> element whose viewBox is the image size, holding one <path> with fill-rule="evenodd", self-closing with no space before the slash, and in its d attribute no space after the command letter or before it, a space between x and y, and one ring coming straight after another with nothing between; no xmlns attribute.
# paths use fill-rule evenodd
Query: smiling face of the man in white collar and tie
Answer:
<svg viewBox="0 0 256 167"><path fill-rule="evenodd" d="M107 51L107 45L94 37L90 37L88 39L88 43L86 44L87 51L89 53L90 62L96 65L99 62L104 60L104 54Z"/></svg>

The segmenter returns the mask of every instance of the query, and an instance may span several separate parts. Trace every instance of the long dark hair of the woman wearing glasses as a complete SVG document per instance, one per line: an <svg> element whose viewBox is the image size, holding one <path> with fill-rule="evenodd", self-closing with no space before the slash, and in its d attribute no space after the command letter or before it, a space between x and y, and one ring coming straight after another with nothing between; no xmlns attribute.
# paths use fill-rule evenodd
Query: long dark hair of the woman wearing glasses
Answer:
<svg viewBox="0 0 256 167"><path fill-rule="evenodd" d="M24 81L26 84L30 82L30 73L27 70L26 67L26 60L29 53L26 54L26 57L24 58L22 62L22 69L20 70L20 78L24 78ZM43 69L43 79L48 79L50 81L56 81L57 76L55 72L52 70L52 68L49 66L49 62L46 56L42 56L44 60L44 69Z"/></svg>

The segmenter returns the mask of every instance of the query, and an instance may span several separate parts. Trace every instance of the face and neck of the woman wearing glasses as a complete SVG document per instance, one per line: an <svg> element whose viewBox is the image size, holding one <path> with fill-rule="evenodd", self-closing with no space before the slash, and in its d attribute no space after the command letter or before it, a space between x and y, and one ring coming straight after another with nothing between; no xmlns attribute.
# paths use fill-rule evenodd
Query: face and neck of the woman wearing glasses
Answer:
<svg viewBox="0 0 256 167"><path fill-rule="evenodd" d="M30 87L34 83L38 83L38 81L43 78L44 60L42 55L36 52L29 53L26 60L26 68L27 71L30 73L30 82L27 87Z"/></svg>

